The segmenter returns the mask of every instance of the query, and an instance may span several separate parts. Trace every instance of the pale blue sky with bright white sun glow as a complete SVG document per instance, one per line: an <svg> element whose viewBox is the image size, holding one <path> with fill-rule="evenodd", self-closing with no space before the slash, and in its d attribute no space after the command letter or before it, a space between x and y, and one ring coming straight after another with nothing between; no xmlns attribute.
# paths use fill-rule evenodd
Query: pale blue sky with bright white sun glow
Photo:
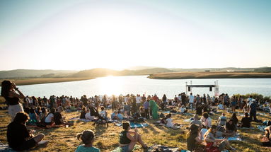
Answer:
<svg viewBox="0 0 271 152"><path fill-rule="evenodd" d="M271 66L269 0L0 0L0 70Z"/></svg>

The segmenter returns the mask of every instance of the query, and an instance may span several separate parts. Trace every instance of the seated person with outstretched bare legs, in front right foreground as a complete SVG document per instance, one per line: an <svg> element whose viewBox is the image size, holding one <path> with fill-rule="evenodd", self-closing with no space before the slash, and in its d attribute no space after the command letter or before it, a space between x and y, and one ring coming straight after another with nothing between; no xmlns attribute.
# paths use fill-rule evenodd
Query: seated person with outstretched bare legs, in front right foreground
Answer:
<svg viewBox="0 0 271 152"><path fill-rule="evenodd" d="M229 141L226 139L215 139L215 134L217 132L217 126L212 125L210 129L204 134L204 141L207 143L207 147L218 147L219 151L224 151L226 148L229 148L231 151L235 151Z"/></svg>

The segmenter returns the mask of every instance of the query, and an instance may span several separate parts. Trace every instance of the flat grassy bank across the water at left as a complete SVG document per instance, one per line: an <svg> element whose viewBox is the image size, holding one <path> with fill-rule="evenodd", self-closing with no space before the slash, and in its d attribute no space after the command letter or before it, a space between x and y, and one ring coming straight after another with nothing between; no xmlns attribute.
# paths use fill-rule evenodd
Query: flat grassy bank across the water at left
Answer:
<svg viewBox="0 0 271 152"><path fill-rule="evenodd" d="M18 86L30 85L30 84L42 84L42 83L57 83L57 82L68 82L68 81L82 81L91 78L18 78L18 79L6 79L16 83ZM3 79L0 80L1 82Z"/></svg>

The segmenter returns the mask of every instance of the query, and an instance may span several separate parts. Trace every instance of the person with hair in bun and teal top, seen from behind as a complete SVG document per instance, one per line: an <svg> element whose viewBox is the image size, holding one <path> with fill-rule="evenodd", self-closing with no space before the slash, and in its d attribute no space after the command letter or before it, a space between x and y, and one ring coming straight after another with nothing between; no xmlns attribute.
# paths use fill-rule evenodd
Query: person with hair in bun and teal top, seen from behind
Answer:
<svg viewBox="0 0 271 152"><path fill-rule="evenodd" d="M84 130L77 134L77 139L83 141L83 145L77 146L75 152L100 152L99 148L93 147L95 134L92 130Z"/></svg>

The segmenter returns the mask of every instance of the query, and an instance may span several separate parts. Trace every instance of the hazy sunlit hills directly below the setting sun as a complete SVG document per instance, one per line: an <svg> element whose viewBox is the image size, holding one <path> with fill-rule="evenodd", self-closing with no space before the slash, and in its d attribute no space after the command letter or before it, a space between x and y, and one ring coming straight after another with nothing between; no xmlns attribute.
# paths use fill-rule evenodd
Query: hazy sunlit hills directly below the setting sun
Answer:
<svg viewBox="0 0 271 152"><path fill-rule="evenodd" d="M71 77L91 77L97 78L101 76L133 76L133 75L148 75L148 74L158 74L165 72L173 72L169 69L165 68L154 68L154 69L142 69L142 70L123 70L123 71L115 71L111 69L90 69L79 71L76 74L72 74Z"/></svg>

